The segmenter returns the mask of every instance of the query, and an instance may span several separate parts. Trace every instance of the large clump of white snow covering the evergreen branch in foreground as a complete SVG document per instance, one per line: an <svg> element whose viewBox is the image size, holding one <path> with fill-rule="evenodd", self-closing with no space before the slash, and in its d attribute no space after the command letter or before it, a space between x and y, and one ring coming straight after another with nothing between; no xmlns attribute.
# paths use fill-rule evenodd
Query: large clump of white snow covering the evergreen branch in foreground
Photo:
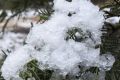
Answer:
<svg viewBox="0 0 120 80"><path fill-rule="evenodd" d="M26 45L11 53L2 66L6 80L21 79L19 71L32 59L39 62L40 69L59 70L63 75L77 73L77 66L100 67L109 70L115 59L112 55L100 56L103 12L88 0L54 0L55 12L43 24L36 24L28 34ZM86 36L83 41L66 40L67 32L80 28ZM88 34L89 33L89 34ZM77 37L82 37L80 32ZM8 67L9 66L9 67ZM75 70L77 69L77 70Z"/></svg>

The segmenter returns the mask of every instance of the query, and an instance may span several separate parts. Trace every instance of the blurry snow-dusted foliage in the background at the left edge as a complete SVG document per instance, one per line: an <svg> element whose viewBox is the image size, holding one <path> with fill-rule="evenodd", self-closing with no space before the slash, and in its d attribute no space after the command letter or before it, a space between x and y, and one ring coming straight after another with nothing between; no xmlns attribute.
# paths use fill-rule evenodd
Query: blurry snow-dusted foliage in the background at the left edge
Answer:
<svg viewBox="0 0 120 80"><path fill-rule="evenodd" d="M25 38L25 34L13 32L5 33L0 39L0 54L4 52L6 55L9 55L14 52L16 49L23 46Z"/></svg>

